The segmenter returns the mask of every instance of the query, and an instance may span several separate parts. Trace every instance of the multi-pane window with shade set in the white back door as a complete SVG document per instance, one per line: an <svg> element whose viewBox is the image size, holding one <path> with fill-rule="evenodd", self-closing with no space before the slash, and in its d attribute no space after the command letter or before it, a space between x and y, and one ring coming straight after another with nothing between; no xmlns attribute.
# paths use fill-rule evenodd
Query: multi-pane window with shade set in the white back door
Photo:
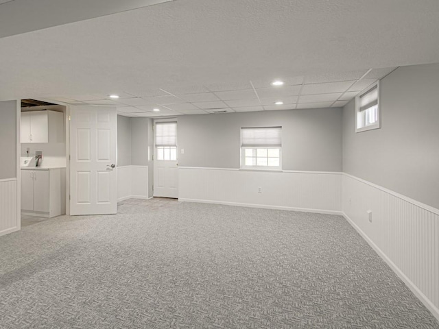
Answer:
<svg viewBox="0 0 439 329"><path fill-rule="evenodd" d="M157 160L177 160L177 123L156 123Z"/></svg>

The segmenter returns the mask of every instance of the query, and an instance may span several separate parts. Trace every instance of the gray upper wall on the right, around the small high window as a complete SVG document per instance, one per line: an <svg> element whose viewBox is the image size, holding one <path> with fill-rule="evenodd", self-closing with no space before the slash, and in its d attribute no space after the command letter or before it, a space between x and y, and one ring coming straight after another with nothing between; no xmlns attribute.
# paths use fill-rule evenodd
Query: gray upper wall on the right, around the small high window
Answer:
<svg viewBox="0 0 439 329"><path fill-rule="evenodd" d="M405 66L381 81L381 129L355 134L343 110L343 171L439 208L439 64Z"/></svg>

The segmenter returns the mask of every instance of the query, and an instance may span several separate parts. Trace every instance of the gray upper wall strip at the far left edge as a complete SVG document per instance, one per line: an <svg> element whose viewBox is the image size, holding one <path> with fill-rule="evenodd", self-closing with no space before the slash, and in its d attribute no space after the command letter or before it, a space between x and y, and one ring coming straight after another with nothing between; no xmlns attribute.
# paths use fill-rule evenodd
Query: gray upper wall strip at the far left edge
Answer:
<svg viewBox="0 0 439 329"><path fill-rule="evenodd" d="M0 101L0 180L16 178L16 101Z"/></svg>

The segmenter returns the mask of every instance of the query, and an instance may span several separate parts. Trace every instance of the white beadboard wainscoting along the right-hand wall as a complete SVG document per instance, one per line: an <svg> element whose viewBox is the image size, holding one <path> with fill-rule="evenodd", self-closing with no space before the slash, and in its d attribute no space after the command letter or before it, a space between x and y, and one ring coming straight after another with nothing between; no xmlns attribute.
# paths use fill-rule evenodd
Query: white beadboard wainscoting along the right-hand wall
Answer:
<svg viewBox="0 0 439 329"><path fill-rule="evenodd" d="M346 173L342 191L346 219L439 320L439 210Z"/></svg>

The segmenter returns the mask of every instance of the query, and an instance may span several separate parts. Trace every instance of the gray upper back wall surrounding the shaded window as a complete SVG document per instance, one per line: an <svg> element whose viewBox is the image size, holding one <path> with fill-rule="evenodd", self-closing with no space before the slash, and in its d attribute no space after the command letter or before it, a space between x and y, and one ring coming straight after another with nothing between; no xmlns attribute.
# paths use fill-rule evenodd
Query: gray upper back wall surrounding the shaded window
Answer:
<svg viewBox="0 0 439 329"><path fill-rule="evenodd" d="M282 126L284 170L342 171L341 108L180 116L178 164L239 168L241 127L270 126Z"/></svg>

